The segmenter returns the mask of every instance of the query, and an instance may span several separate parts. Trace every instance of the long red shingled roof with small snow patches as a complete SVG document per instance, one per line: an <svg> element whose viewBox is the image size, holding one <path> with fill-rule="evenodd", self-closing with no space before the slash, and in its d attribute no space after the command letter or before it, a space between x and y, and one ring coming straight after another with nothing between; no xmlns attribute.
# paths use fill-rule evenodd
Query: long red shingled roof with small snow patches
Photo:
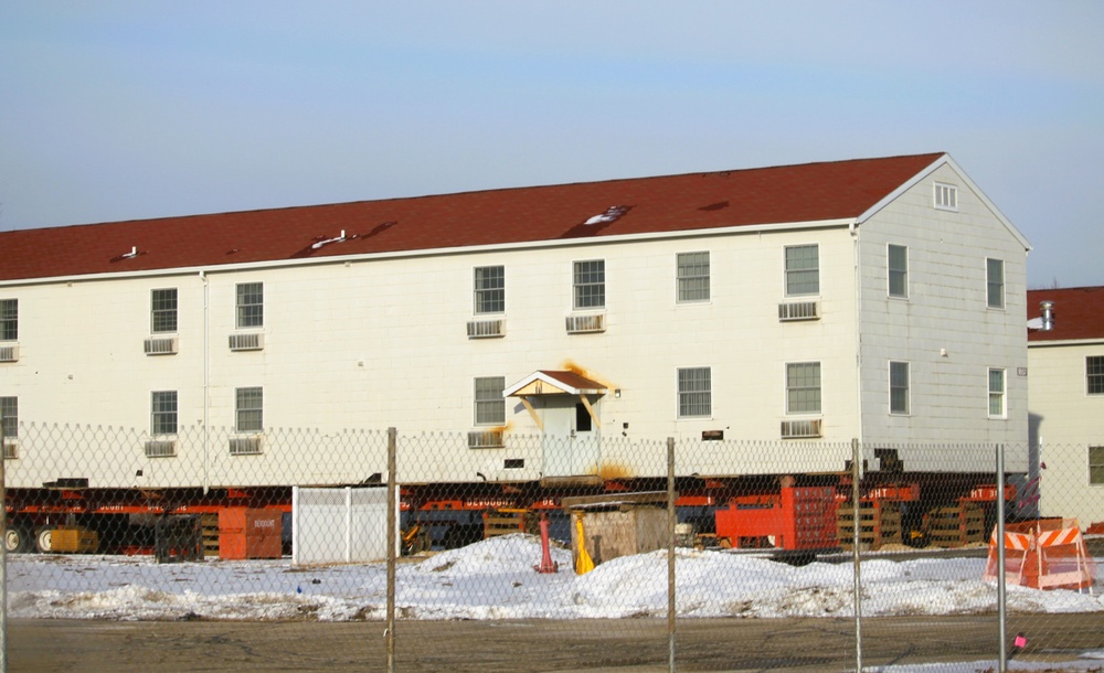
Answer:
<svg viewBox="0 0 1104 673"><path fill-rule="evenodd" d="M0 234L0 280L848 218L941 157L20 229ZM343 242L312 247L342 231Z"/></svg>

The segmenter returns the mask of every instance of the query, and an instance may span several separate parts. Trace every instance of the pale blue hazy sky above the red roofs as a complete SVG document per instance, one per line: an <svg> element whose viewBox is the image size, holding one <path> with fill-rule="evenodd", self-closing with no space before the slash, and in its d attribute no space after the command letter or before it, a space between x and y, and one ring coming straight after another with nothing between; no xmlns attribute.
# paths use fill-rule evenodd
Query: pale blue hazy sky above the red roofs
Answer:
<svg viewBox="0 0 1104 673"><path fill-rule="evenodd" d="M0 231L948 151L1104 285L1104 3L0 6Z"/></svg>

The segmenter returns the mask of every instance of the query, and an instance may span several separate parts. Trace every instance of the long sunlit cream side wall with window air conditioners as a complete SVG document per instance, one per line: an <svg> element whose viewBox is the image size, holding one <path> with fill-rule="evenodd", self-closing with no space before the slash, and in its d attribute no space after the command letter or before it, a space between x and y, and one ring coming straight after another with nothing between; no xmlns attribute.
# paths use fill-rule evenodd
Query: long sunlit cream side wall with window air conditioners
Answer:
<svg viewBox="0 0 1104 673"><path fill-rule="evenodd" d="M779 323L783 248L807 243L820 246L816 299L824 318ZM676 255L698 250L710 252L712 297L680 305ZM572 263L595 258L606 261L607 330L566 334ZM81 473L93 485L132 485L138 468L147 485L192 484L203 473L211 485L272 483L295 460L282 453L291 447L267 439L262 456L230 457L223 435L217 446L192 441L179 446L176 458L146 459L141 436L150 425L150 392L159 389L178 391L182 428L201 428L206 417L212 431L224 432L233 425L234 388L262 386L266 427L322 435L389 426L403 434L455 434L426 442L439 447L440 456L410 460L420 468L412 478L471 480L477 471L501 478L502 459L514 457L510 449L469 450L463 444L463 434L475 429L477 376L503 376L509 385L538 368L581 367L622 391L619 398L609 394L597 403L602 434L619 438L622 447L697 438L705 429L724 430L728 439L776 441L786 417L785 363L820 361L825 441L846 442L859 431L852 264L851 239L846 227L837 227L4 288L20 299L23 350L19 363L0 368L0 382L18 394L24 423L132 428L134 446L120 456L83 461ZM469 340L473 269L489 265L506 267L507 335ZM252 281L264 282L265 348L231 352L235 285ZM180 350L147 356L150 290L164 287L178 288ZM711 418L677 418L677 370L687 366L712 368ZM507 425L513 435L538 432L512 399ZM652 471L630 448L608 446L620 467ZM746 470L723 445L709 446L716 446L715 455L703 452L697 464L716 473ZM373 458L355 461L344 450L327 453L291 478L305 483L363 477L385 464L381 450L375 445L368 451ZM528 456L527 468L539 464L539 445L519 453ZM822 464L806 464L842 469L842 455L829 455ZM794 468L787 457L758 469ZM28 474L26 481L63 476L54 471ZM538 474L527 472L513 476Z"/></svg>

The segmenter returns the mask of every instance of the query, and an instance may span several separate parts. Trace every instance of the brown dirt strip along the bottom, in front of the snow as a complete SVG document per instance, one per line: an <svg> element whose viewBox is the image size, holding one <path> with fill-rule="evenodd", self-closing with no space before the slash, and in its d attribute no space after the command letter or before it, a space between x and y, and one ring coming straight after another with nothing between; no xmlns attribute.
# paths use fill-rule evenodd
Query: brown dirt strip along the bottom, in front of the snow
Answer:
<svg viewBox="0 0 1104 673"><path fill-rule="evenodd" d="M1104 649L1104 615L1009 617L1020 660L1055 662ZM997 658L997 618L894 617L863 621L863 665ZM854 670L850 619L681 620L678 671ZM401 621L394 670L415 673L659 672L666 620ZM106 622L11 620L9 671L89 673L386 671L381 622ZM1104 661L1101 662L1104 671ZM973 671L973 669L970 669Z"/></svg>

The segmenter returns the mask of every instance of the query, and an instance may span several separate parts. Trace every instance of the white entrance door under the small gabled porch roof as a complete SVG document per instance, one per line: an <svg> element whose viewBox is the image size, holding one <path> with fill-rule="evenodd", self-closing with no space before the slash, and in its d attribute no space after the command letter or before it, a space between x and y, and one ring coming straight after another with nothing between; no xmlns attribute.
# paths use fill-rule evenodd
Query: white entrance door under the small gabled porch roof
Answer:
<svg viewBox="0 0 1104 673"><path fill-rule="evenodd" d="M596 474L598 428L586 407L571 395L549 395L543 400L544 476Z"/></svg>

